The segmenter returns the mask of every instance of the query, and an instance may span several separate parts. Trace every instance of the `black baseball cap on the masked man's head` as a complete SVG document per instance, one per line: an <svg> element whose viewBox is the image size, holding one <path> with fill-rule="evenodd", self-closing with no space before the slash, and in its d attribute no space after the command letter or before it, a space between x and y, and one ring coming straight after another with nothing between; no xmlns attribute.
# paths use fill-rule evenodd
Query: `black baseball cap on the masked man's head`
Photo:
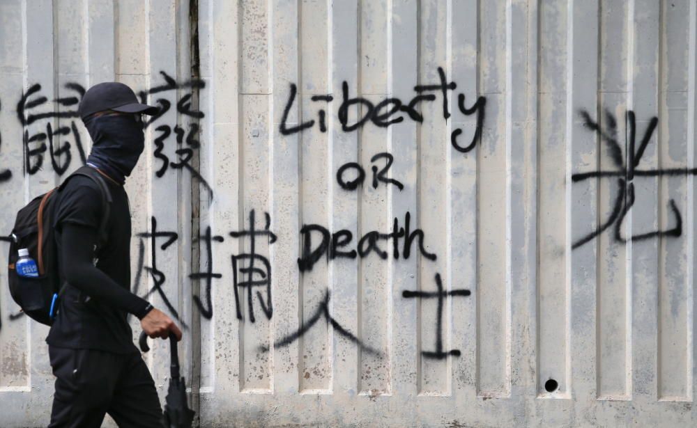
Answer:
<svg viewBox="0 0 697 428"><path fill-rule="evenodd" d="M77 109L82 119L105 110L145 113L151 116L159 111L155 106L139 103L131 88L116 81L105 81L89 88Z"/></svg>

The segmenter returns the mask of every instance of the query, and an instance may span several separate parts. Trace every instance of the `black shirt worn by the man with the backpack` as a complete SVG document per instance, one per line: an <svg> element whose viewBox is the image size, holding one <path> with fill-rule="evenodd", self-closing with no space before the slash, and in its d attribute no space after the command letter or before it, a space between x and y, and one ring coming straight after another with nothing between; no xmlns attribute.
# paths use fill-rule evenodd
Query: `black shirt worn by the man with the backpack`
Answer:
<svg viewBox="0 0 697 428"><path fill-rule="evenodd" d="M88 177L72 177L57 195L52 223L61 284L67 282L68 286L46 339L52 346L137 351L126 316L130 313L140 318L152 308L148 301L130 292L128 196L121 185L105 182L112 205L107 241L96 255L103 210L98 184Z"/></svg>

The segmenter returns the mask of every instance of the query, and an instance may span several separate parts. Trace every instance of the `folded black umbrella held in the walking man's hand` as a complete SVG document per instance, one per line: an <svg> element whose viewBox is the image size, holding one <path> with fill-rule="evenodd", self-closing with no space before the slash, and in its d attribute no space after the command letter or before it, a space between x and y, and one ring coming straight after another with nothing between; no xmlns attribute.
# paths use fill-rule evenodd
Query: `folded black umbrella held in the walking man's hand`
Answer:
<svg viewBox="0 0 697 428"><path fill-rule="evenodd" d="M140 334L140 349L143 352L150 350L148 347L148 336L145 332ZM169 333L169 344L171 345L171 379L167 397L164 397L164 412L162 412L162 426L165 428L191 428L196 412L189 409L186 401L186 383L183 377L179 376L179 355L176 347L176 336Z"/></svg>

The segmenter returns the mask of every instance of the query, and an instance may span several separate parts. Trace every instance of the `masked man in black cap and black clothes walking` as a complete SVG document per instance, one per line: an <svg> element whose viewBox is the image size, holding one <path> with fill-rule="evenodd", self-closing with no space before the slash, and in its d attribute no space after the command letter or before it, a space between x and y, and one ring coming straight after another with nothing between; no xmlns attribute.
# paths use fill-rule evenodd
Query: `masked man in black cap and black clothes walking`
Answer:
<svg viewBox="0 0 697 428"><path fill-rule="evenodd" d="M93 86L80 102L79 115L93 141L87 164L102 175L112 203L107 239L97 253L105 214L98 184L72 177L54 205L59 273L68 285L46 339L56 377L49 428L100 427L105 413L119 427L161 426L155 383L126 317L138 317L151 338L172 332L181 340L182 333L167 315L130 292L131 220L123 188L144 150L141 115L157 111L116 82Z"/></svg>

